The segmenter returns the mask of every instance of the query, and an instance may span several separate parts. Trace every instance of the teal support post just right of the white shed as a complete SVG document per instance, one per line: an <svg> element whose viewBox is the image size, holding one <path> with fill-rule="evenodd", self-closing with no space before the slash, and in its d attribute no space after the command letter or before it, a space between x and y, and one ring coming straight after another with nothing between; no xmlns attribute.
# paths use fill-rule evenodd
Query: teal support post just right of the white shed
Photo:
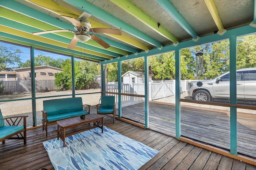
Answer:
<svg viewBox="0 0 256 170"><path fill-rule="evenodd" d="M144 69L145 69L145 128L148 129L149 128L149 115L148 115L148 56L144 56Z"/></svg>

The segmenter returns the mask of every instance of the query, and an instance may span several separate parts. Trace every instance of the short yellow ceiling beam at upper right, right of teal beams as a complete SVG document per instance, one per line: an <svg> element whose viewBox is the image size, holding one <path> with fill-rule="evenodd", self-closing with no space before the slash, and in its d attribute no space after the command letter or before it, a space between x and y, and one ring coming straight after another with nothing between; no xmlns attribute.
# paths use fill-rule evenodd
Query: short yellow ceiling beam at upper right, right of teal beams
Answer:
<svg viewBox="0 0 256 170"><path fill-rule="evenodd" d="M206 5L208 7L208 10L210 11L210 13L212 15L212 18L213 18L216 26L218 27L220 33L222 33L225 30L224 30L222 21L220 19L218 10L217 10L217 8L216 8L216 6L214 4L214 1L213 0L204 0L204 2L206 3Z"/></svg>

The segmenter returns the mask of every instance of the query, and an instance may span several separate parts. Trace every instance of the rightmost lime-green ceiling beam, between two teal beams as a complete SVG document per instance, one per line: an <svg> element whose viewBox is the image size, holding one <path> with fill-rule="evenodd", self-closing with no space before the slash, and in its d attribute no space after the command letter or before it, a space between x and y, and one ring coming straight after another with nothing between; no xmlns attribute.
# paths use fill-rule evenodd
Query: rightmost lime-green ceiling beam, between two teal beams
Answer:
<svg viewBox="0 0 256 170"><path fill-rule="evenodd" d="M134 16L139 21L162 35L163 37L169 39L173 43L178 43L180 40L175 37L172 33L167 31L162 25L158 25L158 22L153 20L150 16L145 14L140 8L132 4L129 0L110 0L114 4L116 4L118 7L122 8L124 11L126 11L128 14Z"/></svg>

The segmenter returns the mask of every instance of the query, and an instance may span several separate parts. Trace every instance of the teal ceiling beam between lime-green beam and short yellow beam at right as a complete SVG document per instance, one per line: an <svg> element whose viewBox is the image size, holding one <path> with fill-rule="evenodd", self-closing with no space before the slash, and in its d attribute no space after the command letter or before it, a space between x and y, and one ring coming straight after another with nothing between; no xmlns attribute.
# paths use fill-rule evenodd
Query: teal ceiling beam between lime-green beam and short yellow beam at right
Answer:
<svg viewBox="0 0 256 170"><path fill-rule="evenodd" d="M187 31L191 37L194 39L198 38L198 33L194 28L188 23L188 21L178 12L170 0L156 0L163 8L172 16L172 18L180 24L180 26Z"/></svg>

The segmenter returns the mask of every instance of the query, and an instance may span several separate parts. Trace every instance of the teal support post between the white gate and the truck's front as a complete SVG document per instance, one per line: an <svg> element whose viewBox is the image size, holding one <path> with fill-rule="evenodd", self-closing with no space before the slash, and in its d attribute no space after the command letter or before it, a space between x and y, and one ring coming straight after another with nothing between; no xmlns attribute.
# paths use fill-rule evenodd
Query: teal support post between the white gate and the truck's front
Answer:
<svg viewBox="0 0 256 170"><path fill-rule="evenodd" d="M180 131L180 48L175 49L175 127L176 138L181 136Z"/></svg>

